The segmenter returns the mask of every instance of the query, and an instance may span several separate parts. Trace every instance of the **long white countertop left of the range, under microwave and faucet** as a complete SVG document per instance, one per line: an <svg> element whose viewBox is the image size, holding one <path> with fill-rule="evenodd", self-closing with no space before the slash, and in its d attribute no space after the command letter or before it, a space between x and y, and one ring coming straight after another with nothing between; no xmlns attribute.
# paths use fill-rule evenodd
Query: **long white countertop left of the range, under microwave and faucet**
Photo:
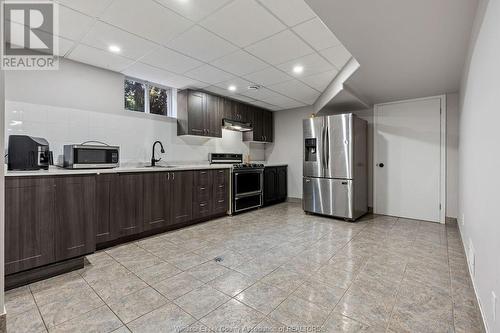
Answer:
<svg viewBox="0 0 500 333"><path fill-rule="evenodd" d="M209 169L230 169L229 164L182 164L169 165L161 167L118 167L113 169L63 169L56 166L51 166L49 170L36 171L6 171L6 177L21 177L21 176L60 176L60 175L89 175L89 174L109 174L109 173L130 173L130 172L168 172L168 171L183 171L183 170L209 170Z"/></svg>

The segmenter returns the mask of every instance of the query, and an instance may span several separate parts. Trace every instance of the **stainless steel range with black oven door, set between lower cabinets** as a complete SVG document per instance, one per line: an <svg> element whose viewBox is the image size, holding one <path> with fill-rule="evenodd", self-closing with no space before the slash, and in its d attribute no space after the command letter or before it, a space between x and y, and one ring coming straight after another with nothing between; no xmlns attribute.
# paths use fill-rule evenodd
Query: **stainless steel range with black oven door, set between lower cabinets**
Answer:
<svg viewBox="0 0 500 333"><path fill-rule="evenodd" d="M264 164L243 163L242 154L210 154L209 161L231 165L231 214L262 206Z"/></svg>

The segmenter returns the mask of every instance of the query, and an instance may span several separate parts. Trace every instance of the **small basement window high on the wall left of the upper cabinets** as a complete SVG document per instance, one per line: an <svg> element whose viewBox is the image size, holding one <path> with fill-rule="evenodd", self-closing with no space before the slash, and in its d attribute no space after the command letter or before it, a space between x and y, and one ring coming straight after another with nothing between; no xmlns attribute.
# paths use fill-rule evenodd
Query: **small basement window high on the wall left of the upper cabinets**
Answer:
<svg viewBox="0 0 500 333"><path fill-rule="evenodd" d="M175 118L173 95L175 89L139 79L124 81L125 110Z"/></svg>

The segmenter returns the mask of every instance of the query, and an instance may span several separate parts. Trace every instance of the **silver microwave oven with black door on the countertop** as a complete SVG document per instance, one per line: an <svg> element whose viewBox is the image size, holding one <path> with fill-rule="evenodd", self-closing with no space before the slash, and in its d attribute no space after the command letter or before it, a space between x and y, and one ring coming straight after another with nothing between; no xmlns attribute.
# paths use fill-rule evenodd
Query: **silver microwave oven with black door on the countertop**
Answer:
<svg viewBox="0 0 500 333"><path fill-rule="evenodd" d="M120 147L98 145L64 145L67 169L106 169L120 165Z"/></svg>

